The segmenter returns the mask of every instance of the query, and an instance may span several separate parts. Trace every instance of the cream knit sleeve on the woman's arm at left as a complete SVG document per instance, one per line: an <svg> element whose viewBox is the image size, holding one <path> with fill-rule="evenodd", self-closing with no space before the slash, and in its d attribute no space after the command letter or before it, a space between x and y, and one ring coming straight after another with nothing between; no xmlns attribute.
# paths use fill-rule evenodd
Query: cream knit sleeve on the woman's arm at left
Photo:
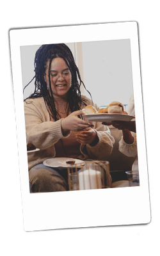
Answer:
<svg viewBox="0 0 160 256"><path fill-rule="evenodd" d="M50 122L46 120L43 111L38 109L35 104L24 104L26 122L26 140L36 148L45 150L54 145L61 138L66 138L61 132L61 120Z"/></svg>

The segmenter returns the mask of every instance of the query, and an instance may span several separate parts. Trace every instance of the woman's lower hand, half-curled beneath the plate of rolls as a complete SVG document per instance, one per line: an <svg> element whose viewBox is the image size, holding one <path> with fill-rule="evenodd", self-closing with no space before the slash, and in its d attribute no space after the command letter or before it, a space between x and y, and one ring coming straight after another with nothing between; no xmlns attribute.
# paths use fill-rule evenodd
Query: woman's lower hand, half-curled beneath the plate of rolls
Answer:
<svg viewBox="0 0 160 256"><path fill-rule="evenodd" d="M76 134L76 140L83 145L94 144L91 146L95 146L98 143L99 138L97 136L97 132L94 129L88 127L79 132L79 134Z"/></svg>

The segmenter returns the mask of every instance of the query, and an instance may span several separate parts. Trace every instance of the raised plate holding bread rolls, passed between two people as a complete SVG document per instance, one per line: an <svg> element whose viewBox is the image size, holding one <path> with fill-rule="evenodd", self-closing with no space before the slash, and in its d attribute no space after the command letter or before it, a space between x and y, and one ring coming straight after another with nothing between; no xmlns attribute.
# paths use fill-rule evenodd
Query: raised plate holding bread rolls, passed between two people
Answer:
<svg viewBox="0 0 160 256"><path fill-rule="evenodd" d="M112 122L112 121L131 121L135 116L129 116L124 114L116 113L99 113L99 114L88 114L83 115L88 121L92 122Z"/></svg>

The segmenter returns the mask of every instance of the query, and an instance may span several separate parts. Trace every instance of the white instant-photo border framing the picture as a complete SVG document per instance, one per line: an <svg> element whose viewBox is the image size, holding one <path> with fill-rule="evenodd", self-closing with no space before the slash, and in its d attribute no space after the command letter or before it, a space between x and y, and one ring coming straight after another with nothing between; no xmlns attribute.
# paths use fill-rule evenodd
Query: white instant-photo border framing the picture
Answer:
<svg viewBox="0 0 160 256"><path fill-rule="evenodd" d="M24 230L149 223L151 215L137 22L11 29L9 34ZM118 39L131 40L140 187L29 193L20 46Z"/></svg>

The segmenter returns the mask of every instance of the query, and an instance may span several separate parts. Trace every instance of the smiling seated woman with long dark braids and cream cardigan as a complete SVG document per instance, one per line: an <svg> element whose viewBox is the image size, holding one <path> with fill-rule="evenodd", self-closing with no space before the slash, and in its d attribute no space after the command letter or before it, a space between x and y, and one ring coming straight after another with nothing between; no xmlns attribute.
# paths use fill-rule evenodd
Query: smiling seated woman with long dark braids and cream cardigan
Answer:
<svg viewBox="0 0 160 256"><path fill-rule="evenodd" d="M27 144L40 149L28 155L31 192L66 191L66 170L43 162L52 157L105 160L114 139L105 125L83 120L81 109L99 107L81 96L83 81L67 45L42 45L34 78L35 91L24 100Z"/></svg>

